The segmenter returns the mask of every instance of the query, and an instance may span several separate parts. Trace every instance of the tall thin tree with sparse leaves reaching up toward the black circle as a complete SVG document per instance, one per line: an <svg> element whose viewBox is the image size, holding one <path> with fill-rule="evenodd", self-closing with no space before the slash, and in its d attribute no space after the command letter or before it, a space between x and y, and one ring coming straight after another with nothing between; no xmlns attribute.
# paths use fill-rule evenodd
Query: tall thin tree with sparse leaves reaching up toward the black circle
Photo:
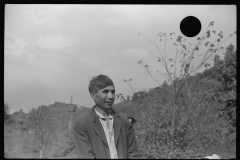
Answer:
<svg viewBox="0 0 240 160"><path fill-rule="evenodd" d="M139 33L139 36L145 37L151 44L154 45L154 47L158 51L158 55L150 52L157 61L165 68L166 73L160 73L165 79L167 80L167 83L169 84L169 87L165 87L166 93L169 93L168 96L168 102L170 106L172 107L172 116L171 116L171 149L169 152L169 157L172 158L174 155L174 150L176 147L175 145L175 130L177 132L177 125L176 122L179 122L177 119L181 112L179 112L179 109L183 108L188 110L191 109L193 103L190 103L193 99L195 99L194 103L196 103L196 95L199 94L199 92L196 90L196 87L199 84L201 84L201 81L195 79L195 75L197 75L197 71L202 68L208 68L211 66L209 63L211 61L211 58L224 51L224 48L221 47L222 43L227 41L230 37L232 37L233 34L236 34L234 32L233 34L230 34L226 39L224 39L224 34L222 31L220 31L218 34L216 34L216 31L212 29L214 22L211 21L205 31L205 33L197 37L194 42L188 42L187 39L184 39L183 36L179 35L176 37L176 42L173 43L173 46L175 46L174 56L169 57L170 54L167 54L167 52L173 52L172 50L167 50L167 42L172 41L174 38L175 33L172 32L169 35L166 33L160 32L157 34L160 39L160 43L163 43L163 49L159 47L157 42L150 40L143 34ZM213 38L213 39L212 39ZM206 51L204 51L206 50ZM231 50L231 47L228 49ZM200 52L203 51L203 52ZM204 54L203 54L204 53ZM198 58L197 58L198 57ZM196 58L200 61L197 63ZM215 63L217 62L218 58L215 57ZM138 62L139 65L141 65L146 72L150 75L150 77L160 86L160 82L158 82L158 78L153 76L153 70L149 65L146 65L143 60L140 60ZM224 71L224 70L223 70ZM205 74L209 74L210 72L205 72ZM227 73L227 72L225 72ZM230 72L228 72L230 74ZM229 81L229 79L226 78L225 80ZM234 81L234 80L233 80ZM166 82L165 86L166 86ZM227 83L227 82L226 82ZM194 87L194 88L193 88ZM217 87L218 88L218 87ZM185 91L182 91L185 89ZM212 92L210 92L212 93ZM204 94L205 97L212 96L209 93ZM184 97L184 105L181 105L179 102L179 97L182 96L181 99ZM215 105L218 104L215 102ZM196 108L198 108L196 104ZM197 112L197 110L191 111L190 115ZM156 111L155 111L156 113ZM191 117L191 116L188 117ZM187 118L189 119L189 118ZM185 125L190 125L188 123L189 121L186 121ZM185 126L185 128L188 128ZM186 131L184 131L186 132ZM158 158L158 157L157 157Z"/></svg>

